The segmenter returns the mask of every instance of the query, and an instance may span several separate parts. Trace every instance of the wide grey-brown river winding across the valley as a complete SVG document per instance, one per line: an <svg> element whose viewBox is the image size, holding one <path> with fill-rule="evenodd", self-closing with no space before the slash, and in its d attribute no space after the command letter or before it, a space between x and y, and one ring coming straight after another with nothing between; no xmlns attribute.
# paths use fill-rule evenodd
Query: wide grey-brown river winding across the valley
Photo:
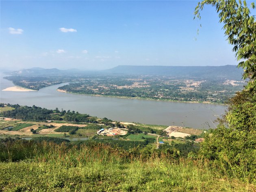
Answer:
<svg viewBox="0 0 256 192"><path fill-rule="evenodd" d="M139 122L155 125L179 125L184 127L215 128L213 121L224 113L226 106L217 104L180 103L99 97L61 93L56 89L64 84L48 86L39 91L2 91L14 84L0 74L0 102L48 109L74 110L91 116L107 117L115 121ZM183 123L182 123L183 122Z"/></svg>

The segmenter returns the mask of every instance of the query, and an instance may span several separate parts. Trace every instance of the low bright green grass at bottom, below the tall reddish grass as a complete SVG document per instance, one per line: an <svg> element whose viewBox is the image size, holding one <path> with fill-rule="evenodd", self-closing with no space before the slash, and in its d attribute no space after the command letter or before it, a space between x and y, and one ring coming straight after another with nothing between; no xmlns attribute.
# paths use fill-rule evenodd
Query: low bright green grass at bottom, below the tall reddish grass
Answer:
<svg viewBox="0 0 256 192"><path fill-rule="evenodd" d="M115 164L92 162L76 167L46 162L0 163L3 191L253 191L190 163L161 160Z"/></svg>

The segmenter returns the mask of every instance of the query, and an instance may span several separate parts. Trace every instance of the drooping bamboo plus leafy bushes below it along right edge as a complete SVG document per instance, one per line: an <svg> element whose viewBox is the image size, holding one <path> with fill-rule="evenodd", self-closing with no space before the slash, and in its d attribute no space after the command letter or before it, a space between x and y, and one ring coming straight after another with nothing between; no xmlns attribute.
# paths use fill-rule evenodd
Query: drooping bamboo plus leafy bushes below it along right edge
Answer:
<svg viewBox="0 0 256 192"><path fill-rule="evenodd" d="M195 17L206 4L216 8L224 24L228 42L234 45L238 67L244 69L243 79L249 82L242 92L228 101L229 108L217 129L205 134L202 155L230 177L256 181L256 23L250 16L246 1L203 0L195 8ZM255 9L254 3L251 4Z"/></svg>

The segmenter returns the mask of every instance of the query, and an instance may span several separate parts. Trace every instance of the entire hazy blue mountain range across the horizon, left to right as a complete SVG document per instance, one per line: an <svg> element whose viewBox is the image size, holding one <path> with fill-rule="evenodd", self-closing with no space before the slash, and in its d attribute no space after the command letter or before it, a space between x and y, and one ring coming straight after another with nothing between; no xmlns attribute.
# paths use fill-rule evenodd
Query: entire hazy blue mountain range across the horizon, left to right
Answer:
<svg viewBox="0 0 256 192"><path fill-rule="evenodd" d="M153 76L174 76L176 78L202 78L216 79L224 78L230 80L241 80L243 69L236 65L225 66L133 66L119 65L112 69L102 71L81 71L79 69L59 70L43 69L34 67L13 71L9 75L13 76L59 76L59 75L153 75Z"/></svg>

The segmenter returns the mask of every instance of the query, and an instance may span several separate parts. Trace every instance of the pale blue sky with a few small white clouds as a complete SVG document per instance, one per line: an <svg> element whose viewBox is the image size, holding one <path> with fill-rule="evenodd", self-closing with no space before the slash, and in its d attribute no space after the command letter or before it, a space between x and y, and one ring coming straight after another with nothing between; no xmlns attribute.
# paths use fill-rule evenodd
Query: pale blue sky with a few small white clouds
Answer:
<svg viewBox="0 0 256 192"><path fill-rule="evenodd" d="M1 0L1 68L236 65L215 9L193 20L197 2Z"/></svg>

